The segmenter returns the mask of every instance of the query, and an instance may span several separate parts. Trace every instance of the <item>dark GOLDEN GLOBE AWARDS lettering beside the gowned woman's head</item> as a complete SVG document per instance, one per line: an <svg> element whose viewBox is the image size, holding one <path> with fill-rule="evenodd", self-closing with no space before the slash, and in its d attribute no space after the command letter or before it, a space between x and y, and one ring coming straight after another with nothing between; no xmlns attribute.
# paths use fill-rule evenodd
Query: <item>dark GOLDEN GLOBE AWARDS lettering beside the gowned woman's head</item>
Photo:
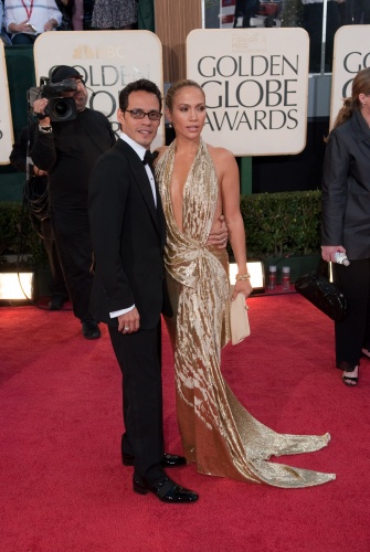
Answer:
<svg viewBox="0 0 370 552"><path fill-rule="evenodd" d="M207 124L212 130L239 130L242 125L250 130L296 128L298 67L298 55L201 57L198 72L208 78L201 85L213 98L207 102Z"/></svg>

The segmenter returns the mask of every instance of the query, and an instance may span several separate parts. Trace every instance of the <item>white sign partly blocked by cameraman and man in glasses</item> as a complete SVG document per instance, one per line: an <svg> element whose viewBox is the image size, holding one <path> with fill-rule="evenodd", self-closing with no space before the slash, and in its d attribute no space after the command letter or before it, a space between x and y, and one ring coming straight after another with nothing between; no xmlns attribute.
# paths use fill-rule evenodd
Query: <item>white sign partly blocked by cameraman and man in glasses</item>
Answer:
<svg viewBox="0 0 370 552"><path fill-rule="evenodd" d="M162 47L150 31L63 31L41 34L34 44L36 82L55 65L72 65L84 77L87 107L104 113L119 129L119 92L133 81L149 78L162 89ZM163 125L155 146L165 142Z"/></svg>

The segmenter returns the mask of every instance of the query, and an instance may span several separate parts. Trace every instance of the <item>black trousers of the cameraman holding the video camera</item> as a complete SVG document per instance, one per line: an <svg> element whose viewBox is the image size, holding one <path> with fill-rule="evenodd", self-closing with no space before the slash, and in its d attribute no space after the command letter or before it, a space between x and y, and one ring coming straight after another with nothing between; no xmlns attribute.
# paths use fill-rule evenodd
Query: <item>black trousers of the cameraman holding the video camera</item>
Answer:
<svg viewBox="0 0 370 552"><path fill-rule="evenodd" d="M53 206L51 220L74 316L80 320L92 320L89 296L93 285L93 250L87 208Z"/></svg>

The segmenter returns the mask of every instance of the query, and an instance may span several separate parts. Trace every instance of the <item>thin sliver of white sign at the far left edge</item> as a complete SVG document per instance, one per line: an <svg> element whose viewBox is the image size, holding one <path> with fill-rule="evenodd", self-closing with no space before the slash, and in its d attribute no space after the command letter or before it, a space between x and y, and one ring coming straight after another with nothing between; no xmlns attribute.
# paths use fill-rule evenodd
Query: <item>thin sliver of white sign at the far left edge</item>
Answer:
<svg viewBox="0 0 370 552"><path fill-rule="evenodd" d="M10 112L9 87L3 43L0 40L0 164L9 163L13 147L13 126Z"/></svg>

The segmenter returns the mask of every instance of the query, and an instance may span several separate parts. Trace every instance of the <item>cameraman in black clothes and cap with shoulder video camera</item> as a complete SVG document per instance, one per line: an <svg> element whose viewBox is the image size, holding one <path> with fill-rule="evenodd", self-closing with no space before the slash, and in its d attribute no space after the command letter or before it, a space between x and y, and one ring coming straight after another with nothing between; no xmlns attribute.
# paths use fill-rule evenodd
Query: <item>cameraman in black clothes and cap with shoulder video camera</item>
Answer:
<svg viewBox="0 0 370 552"><path fill-rule="evenodd" d="M87 91L80 73L67 65L56 66L51 74L52 85L60 83L63 89L67 81L73 82L74 89L66 84L60 96L74 100L76 114L70 116L66 109L67 117L55 120L47 110L53 100L35 99L33 112L39 125L30 157L49 174L51 221L74 315L82 322L83 336L97 339L101 330L88 306L93 282L88 180L97 158L115 144L115 135L102 113L86 107ZM41 91L41 96L45 95L45 89Z"/></svg>

